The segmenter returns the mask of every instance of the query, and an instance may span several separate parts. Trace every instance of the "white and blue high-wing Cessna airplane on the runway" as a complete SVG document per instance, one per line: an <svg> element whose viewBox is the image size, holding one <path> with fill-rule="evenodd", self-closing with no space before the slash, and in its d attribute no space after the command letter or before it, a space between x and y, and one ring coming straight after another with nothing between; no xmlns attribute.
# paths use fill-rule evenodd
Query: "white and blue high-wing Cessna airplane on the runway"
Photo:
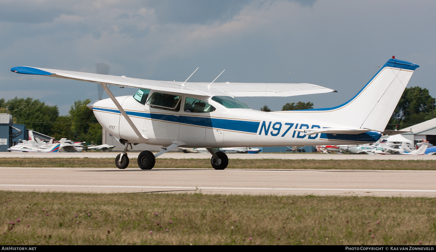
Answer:
<svg viewBox="0 0 436 252"><path fill-rule="evenodd" d="M120 169L129 165L131 144L147 143L167 147L154 155L141 152L138 165L143 170L152 169L155 157L179 146L206 148L212 155L212 167L223 170L228 157L211 148L363 144L376 142L382 133L403 133L385 127L418 67L392 57L344 104L277 112L250 109L234 97L336 91L307 83L153 81L27 66L10 71L99 83L110 98L91 102L88 107L102 127L125 145L115 160ZM114 97L109 90L114 85L139 90L134 95Z"/></svg>

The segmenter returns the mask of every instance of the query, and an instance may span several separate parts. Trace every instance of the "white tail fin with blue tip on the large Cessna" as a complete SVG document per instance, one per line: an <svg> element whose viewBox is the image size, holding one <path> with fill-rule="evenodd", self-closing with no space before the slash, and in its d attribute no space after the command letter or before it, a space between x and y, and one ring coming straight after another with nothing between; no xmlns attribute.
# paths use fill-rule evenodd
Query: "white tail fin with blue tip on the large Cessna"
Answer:
<svg viewBox="0 0 436 252"><path fill-rule="evenodd" d="M392 57L348 102L332 108L287 111L290 115L383 132L404 89L419 65ZM284 112L284 111L283 111Z"/></svg>

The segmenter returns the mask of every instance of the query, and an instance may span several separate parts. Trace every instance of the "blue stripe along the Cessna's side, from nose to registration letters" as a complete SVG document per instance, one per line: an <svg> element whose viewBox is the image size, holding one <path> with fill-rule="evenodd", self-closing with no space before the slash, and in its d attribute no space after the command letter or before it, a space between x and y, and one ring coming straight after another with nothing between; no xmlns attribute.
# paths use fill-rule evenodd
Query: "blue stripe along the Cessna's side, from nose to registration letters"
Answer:
<svg viewBox="0 0 436 252"><path fill-rule="evenodd" d="M96 107L94 107L93 109L99 111L105 111L105 112L120 113L118 109L103 109L103 108L96 108ZM182 116L182 115L174 116L172 114L157 114L157 113L145 113L145 112L135 112L135 111L126 111L126 113L129 116L157 119L157 120L173 122L173 123L180 122L180 123L191 124L195 126L236 130L236 131L249 132L249 133L257 133L257 129L259 128L259 124L260 124L260 122L240 121L240 120L201 117L201 116Z"/></svg>

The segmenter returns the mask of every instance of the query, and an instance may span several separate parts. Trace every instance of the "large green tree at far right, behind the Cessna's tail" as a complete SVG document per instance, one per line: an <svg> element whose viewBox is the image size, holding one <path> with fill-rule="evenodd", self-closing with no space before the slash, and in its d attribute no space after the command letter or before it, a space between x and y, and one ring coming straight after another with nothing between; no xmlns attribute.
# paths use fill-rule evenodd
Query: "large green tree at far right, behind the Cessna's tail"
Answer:
<svg viewBox="0 0 436 252"><path fill-rule="evenodd" d="M433 118L435 99L428 89L418 86L406 88L386 129L402 129Z"/></svg>

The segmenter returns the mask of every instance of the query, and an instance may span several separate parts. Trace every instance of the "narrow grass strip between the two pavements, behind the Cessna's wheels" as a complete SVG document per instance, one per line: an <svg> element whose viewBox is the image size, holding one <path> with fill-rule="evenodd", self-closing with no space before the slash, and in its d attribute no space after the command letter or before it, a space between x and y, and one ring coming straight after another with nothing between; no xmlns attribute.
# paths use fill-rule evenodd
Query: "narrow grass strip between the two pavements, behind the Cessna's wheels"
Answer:
<svg viewBox="0 0 436 252"><path fill-rule="evenodd" d="M0 158L0 167L115 167L112 158ZM156 159L155 168L212 169L209 159ZM131 159L129 168L138 168ZM232 159L235 169L436 170L436 160L283 160Z"/></svg>

